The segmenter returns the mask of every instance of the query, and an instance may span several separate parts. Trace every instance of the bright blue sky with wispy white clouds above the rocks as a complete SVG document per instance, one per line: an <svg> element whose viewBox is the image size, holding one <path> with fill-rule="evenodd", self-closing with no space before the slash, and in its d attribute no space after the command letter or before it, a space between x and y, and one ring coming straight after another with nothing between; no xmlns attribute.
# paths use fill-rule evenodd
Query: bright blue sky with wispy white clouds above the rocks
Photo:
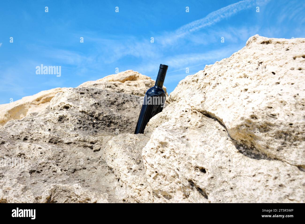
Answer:
<svg viewBox="0 0 305 224"><path fill-rule="evenodd" d="M2 1L0 104L77 87L116 68L155 79L160 63L169 66L164 85L171 92L185 76L244 47L250 36L305 37L304 12L303 0ZM61 66L61 76L37 75L41 64Z"/></svg>

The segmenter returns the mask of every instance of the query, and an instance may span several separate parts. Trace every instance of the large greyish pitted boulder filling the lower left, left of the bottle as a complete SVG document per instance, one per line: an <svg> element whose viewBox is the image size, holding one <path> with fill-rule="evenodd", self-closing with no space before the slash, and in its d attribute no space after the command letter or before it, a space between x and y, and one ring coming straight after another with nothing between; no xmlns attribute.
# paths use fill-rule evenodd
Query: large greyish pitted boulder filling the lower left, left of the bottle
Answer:
<svg viewBox="0 0 305 224"><path fill-rule="evenodd" d="M112 148L111 143L104 147L113 136L134 132L141 101L142 97L129 94L69 88L57 94L40 113L6 123L0 129L0 199L48 203L132 201L128 199L132 195L116 195L116 189L124 190L117 176L124 178L106 163L110 155L104 156L104 151ZM138 169L144 174L139 158L147 141L146 137L138 145L141 147L133 146L135 152L130 154L135 156L128 151L126 158L120 155L121 161L115 160L118 166L123 167L128 160L132 164L136 158L135 166L140 161ZM124 153L125 148L122 150ZM10 158L17 162L10 164ZM135 187L140 188L140 183Z"/></svg>

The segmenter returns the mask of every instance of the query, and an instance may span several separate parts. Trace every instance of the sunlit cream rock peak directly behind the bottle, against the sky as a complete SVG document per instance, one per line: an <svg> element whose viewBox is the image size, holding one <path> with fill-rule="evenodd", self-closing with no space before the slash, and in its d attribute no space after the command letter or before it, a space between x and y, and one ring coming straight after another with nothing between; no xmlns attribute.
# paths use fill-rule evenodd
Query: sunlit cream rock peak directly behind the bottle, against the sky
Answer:
<svg viewBox="0 0 305 224"><path fill-rule="evenodd" d="M117 74L106 76L96 81L88 81L79 87L92 87L114 91L117 93L126 93L137 96L144 96L146 91L155 85L155 81L150 77L142 75L133 70L127 70ZM166 87L163 87L168 96Z"/></svg>

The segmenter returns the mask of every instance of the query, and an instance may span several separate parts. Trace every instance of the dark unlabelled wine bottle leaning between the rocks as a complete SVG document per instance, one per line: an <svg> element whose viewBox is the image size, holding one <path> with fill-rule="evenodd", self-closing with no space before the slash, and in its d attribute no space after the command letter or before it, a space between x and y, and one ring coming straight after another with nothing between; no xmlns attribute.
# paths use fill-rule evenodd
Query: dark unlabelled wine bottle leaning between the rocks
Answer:
<svg viewBox="0 0 305 224"><path fill-rule="evenodd" d="M157 113L160 113L163 110L166 96L162 87L167 68L167 65L160 64L156 84L154 87L151 87L149 90L147 90L144 96L144 101L139 115L138 123L135 128L135 134L143 134L145 126L147 125L149 120Z"/></svg>

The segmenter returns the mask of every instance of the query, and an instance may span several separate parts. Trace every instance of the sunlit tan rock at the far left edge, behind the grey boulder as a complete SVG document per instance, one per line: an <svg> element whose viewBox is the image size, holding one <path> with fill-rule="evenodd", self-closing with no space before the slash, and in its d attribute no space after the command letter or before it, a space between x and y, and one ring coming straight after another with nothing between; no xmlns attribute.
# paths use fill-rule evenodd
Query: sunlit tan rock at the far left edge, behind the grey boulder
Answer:
<svg viewBox="0 0 305 224"><path fill-rule="evenodd" d="M9 120L21 119L32 112L40 112L49 105L50 100L66 88L54 88L41 91L33 96L0 105L0 127Z"/></svg>

